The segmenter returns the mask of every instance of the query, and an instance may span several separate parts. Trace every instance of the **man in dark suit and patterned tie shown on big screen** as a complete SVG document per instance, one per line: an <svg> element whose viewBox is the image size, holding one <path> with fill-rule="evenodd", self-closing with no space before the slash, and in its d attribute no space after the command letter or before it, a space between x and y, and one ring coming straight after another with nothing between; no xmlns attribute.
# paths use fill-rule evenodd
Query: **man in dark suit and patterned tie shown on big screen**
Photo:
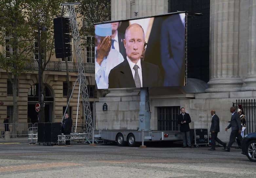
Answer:
<svg viewBox="0 0 256 178"><path fill-rule="evenodd" d="M145 43L143 28L139 24L127 27L123 43L127 57L110 71L109 88L161 86L159 67L140 59Z"/></svg>

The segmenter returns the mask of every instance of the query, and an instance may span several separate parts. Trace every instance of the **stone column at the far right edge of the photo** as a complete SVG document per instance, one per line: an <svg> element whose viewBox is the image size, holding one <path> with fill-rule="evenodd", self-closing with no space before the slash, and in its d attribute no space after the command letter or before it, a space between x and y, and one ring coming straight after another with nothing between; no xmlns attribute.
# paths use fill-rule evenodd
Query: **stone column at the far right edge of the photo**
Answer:
<svg viewBox="0 0 256 178"><path fill-rule="evenodd" d="M248 75L242 91L256 90L256 1L249 0Z"/></svg>

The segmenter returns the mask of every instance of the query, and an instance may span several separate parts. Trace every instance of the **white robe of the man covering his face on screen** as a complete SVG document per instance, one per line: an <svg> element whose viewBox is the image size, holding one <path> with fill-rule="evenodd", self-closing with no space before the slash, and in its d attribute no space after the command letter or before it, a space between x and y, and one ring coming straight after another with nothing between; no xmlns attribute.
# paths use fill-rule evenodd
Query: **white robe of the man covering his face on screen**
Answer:
<svg viewBox="0 0 256 178"><path fill-rule="evenodd" d="M97 47L95 47L95 51L96 50ZM97 87L98 89L107 89L109 72L119 63L124 61L123 56L116 49L111 49L108 56L103 58L101 65L96 62L96 59L95 53L95 80Z"/></svg>

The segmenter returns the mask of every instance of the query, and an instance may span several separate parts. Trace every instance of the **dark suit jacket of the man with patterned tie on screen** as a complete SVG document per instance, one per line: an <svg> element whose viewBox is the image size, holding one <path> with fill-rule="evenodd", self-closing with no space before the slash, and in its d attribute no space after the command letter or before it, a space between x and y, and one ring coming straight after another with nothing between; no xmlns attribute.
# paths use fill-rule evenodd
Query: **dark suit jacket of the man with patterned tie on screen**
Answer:
<svg viewBox="0 0 256 178"><path fill-rule="evenodd" d="M141 61L142 86L161 86L162 80L157 65ZM127 59L111 69L108 76L108 88L133 88L136 87L132 71Z"/></svg>

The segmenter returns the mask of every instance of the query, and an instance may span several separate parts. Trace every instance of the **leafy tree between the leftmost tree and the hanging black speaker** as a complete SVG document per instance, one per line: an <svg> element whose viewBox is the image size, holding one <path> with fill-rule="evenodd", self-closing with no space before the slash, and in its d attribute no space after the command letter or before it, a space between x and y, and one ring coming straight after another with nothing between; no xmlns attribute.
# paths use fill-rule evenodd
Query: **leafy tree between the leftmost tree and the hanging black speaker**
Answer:
<svg viewBox="0 0 256 178"><path fill-rule="evenodd" d="M30 3L28 7L28 19L30 21L30 24L32 25L35 39L38 40L38 29L41 31L43 26L46 26L48 28L47 31L41 31L40 33L40 51L38 52L41 54L41 60L37 59L38 66L40 66L39 77L41 78L40 85L41 94L43 94L43 96L45 96L45 83L43 82L43 73L45 71L46 65L50 61L51 57L54 55L53 18L61 16L61 3L64 2L64 0L35 0L33 1L33 3ZM41 101L41 103L44 103L44 100ZM39 112L39 122L45 122L44 107L41 107L41 110Z"/></svg>

